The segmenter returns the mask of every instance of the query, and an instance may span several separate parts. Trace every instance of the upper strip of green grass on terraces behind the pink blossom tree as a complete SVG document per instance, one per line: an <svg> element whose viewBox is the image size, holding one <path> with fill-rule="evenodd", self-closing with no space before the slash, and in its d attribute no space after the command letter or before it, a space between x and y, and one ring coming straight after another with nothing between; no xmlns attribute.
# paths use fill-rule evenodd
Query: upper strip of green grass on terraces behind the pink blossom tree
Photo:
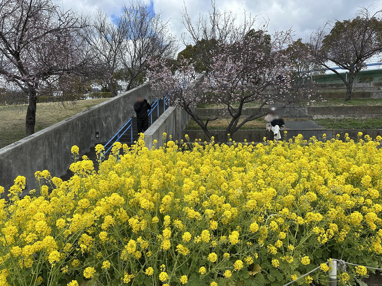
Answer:
<svg viewBox="0 0 382 286"><path fill-rule="evenodd" d="M245 107L259 107L261 104L256 102L249 102L245 104ZM313 104L309 106L382 106L382 98L354 98L352 100L346 101L344 98L328 98L327 100L316 100ZM234 103L233 107L238 107L238 103ZM197 104L197 108L227 108L223 104Z"/></svg>

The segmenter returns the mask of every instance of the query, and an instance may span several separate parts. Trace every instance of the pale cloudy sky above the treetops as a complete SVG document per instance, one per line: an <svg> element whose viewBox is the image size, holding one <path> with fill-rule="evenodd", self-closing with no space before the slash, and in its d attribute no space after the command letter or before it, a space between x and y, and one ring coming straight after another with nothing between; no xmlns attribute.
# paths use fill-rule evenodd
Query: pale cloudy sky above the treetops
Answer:
<svg viewBox="0 0 382 286"><path fill-rule="evenodd" d="M59 0L57 0L59 1ZM125 3L129 3L126 0ZM189 16L196 21L199 14L206 14L211 10L210 0L142 0L148 3L155 12L162 12L163 20L169 21L173 35L180 38L186 32L182 23L184 6ZM73 9L84 13L102 8L112 15L119 14L122 3L120 0L62 0L64 10ZM311 31L316 30L324 22L338 19L353 18L359 6L368 7L374 3L375 11L382 9L382 1L364 0L216 0L217 8L230 10L237 14L238 21L243 19L244 10L257 15L257 24L260 26L264 18L269 18L268 30L288 30L292 28L295 39L305 38ZM372 10L370 10L372 11ZM181 50L184 47L180 47Z"/></svg>

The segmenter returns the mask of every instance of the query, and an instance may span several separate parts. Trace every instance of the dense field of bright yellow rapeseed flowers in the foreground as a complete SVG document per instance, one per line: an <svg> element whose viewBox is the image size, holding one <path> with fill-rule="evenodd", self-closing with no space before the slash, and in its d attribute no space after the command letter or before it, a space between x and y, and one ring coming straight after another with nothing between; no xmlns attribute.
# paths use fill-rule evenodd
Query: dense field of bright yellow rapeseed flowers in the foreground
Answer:
<svg viewBox="0 0 382 286"><path fill-rule="evenodd" d="M19 176L0 200L0 285L283 285L317 266L295 284L327 285L330 258L378 267L381 138L361 136L151 150L140 138L97 172L73 146L70 180L37 171L20 199ZM339 283L365 275L348 267Z"/></svg>

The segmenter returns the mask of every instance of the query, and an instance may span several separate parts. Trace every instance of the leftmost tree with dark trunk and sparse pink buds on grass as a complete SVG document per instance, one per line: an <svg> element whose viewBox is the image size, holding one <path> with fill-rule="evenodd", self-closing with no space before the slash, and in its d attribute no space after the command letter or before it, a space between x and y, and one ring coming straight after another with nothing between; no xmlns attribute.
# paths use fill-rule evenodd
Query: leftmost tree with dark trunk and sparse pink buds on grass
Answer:
<svg viewBox="0 0 382 286"><path fill-rule="evenodd" d="M34 133L37 99L70 92L94 67L82 37L84 19L63 13L52 0L4 0L0 3L0 85L28 98L26 135Z"/></svg>

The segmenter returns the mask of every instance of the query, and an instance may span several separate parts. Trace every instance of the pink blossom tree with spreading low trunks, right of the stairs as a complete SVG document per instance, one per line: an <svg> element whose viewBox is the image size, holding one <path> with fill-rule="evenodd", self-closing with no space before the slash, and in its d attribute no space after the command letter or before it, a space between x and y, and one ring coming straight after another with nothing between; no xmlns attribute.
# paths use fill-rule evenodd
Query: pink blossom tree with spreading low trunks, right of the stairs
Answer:
<svg viewBox="0 0 382 286"><path fill-rule="evenodd" d="M225 53L211 57L209 73L200 84L187 59L175 73L165 62L157 61L152 64L151 79L155 80L152 87L162 95L172 95L174 104L185 109L208 137L213 135L208 122L217 117L204 122L195 104L219 103L230 118L225 132L233 134L246 122L264 116L267 104L287 106L309 100L314 92L311 76L307 74L311 71L296 73L290 68L292 59L306 56L301 49L291 48L292 44L291 31L275 32L269 37L262 30L256 32L256 41L245 37L231 44L222 43L219 50ZM243 112L249 104L253 108Z"/></svg>

